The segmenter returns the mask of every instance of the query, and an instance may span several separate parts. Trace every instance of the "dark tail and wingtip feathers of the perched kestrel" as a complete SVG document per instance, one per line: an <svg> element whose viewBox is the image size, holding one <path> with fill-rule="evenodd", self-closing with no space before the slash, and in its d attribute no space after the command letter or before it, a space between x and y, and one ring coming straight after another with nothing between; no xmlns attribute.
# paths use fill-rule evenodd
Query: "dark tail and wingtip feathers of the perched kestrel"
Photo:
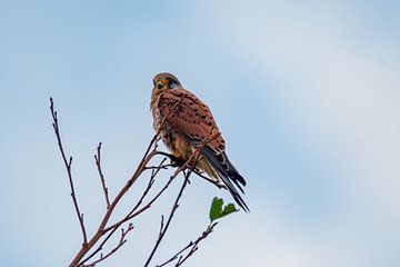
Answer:
<svg viewBox="0 0 400 267"><path fill-rule="evenodd" d="M244 178L238 172L233 165L229 161L226 152L214 152L210 147L204 147L202 149L202 155L209 164L209 168L212 170L203 168L203 170L210 176L220 178L222 182L227 186L227 189L232 195L234 201L244 210L249 211L249 207L246 205L244 200L240 196L239 190L244 194L242 186L246 186ZM217 176L216 176L217 175Z"/></svg>

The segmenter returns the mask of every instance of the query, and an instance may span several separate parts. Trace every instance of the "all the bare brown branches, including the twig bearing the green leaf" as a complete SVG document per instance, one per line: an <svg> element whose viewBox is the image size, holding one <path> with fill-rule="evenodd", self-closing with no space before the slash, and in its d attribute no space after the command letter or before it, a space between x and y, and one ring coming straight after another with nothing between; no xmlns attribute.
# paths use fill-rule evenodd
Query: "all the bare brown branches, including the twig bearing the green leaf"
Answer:
<svg viewBox="0 0 400 267"><path fill-rule="evenodd" d="M172 107L170 112L172 112L172 110L179 105L179 102L181 102L181 100L178 101ZM102 144L99 142L99 145L97 146L97 152L94 155L94 161L96 161L98 175L100 178L103 196L106 199L106 212L104 212L101 221L99 222L97 231L91 237L88 238L87 228L86 228L84 220L83 220L83 212L81 212L81 209L79 207L79 202L78 202L77 195L76 195L76 188L74 188L74 184L73 184L73 179L72 179L72 171L71 171L72 157L68 158L66 156L64 148L62 145L62 139L61 139L61 134L60 134L59 119L58 119L57 111L54 110L54 105L53 105L52 98L50 98L50 111L51 111L51 116L52 116L52 127L53 127L53 130L54 130L54 134L57 137L58 148L60 150L62 161L63 161L64 168L67 170L67 175L68 175L68 181L69 181L69 186L70 186L70 190L71 190L70 195L72 198L76 215L78 217L80 230L82 233L82 246L78 250L77 255L73 257L71 263L69 264L70 267L93 267L97 264L99 264L100 261L103 261L104 259L107 259L110 256L112 256L113 254L116 254L127 243L127 236L129 235L129 233L131 233L134 229L132 219L136 218L137 216L141 215L146 210L148 210L158 200L158 198L167 190L167 188L170 186L172 180L174 180L174 178L179 174L183 174L182 186L181 186L179 194L171 207L169 216L167 217L167 219L164 218L164 216L161 216L161 224L160 224L158 239L150 253L149 258L147 259L147 261L144 264L146 267L149 266L150 261L152 260L160 243L162 241L162 239L170 226L170 222L172 221L172 217L173 217L176 210L179 207L179 200L183 194L183 190L187 187L187 185L190 182L189 181L190 175L192 172L196 172L200 177L219 186L217 182L208 179L207 177L201 176L199 170L197 170L194 168L196 164L192 164L192 162L197 162L197 160L199 159L200 150L201 150L202 146L206 145L206 142L202 144L202 146L200 146L186 162L178 162L174 156L158 150L158 141L160 140L160 131L161 131L161 129L159 129L157 131L157 134L153 136L153 138L151 139L141 161L139 162L139 165L138 165L136 171L133 172L133 175L131 176L131 178L127 180L126 185L118 191L118 194L113 198L110 198L109 188L107 187L106 178L104 178L102 166L101 166ZM169 116L169 113L167 116L164 116L162 122L166 120L166 118ZM213 138L216 138L216 137L213 137ZM150 166L149 164L150 164L151 159L153 159L154 157L159 157L159 156L163 157L160 160L160 162L156 166ZM178 166L173 166L173 164L167 164L166 162L167 158L170 158L171 161L174 164L178 164ZM170 176L170 178L164 184L164 186L151 199L149 199L144 202L146 197L148 196L149 191L151 190L151 188L154 184L156 177L160 174L161 170L169 169L170 167L177 167L173 175ZM151 171L150 179L149 179L149 182L147 184L147 187L143 190L143 194L139 198L138 202L131 208L131 210L129 210L126 214L126 216L123 216L116 222L110 224L110 221L109 221L110 217L111 217L114 208L117 207L117 205L120 202L122 197L128 192L128 190L132 187L132 185L137 181L137 179L147 170ZM179 260L176 266L180 266L182 263L184 263L187 260L187 258L189 258L197 250L198 244L212 231L212 229L217 224L210 225L208 227L208 229L196 241L189 243L188 246L186 246L183 249L181 249L171 259L167 260L166 263L163 263L162 265L159 265L159 266L164 266L164 265L176 260L177 258L179 258ZM117 244L108 253L102 253L103 247L106 246L106 244L109 244L110 238L112 236L114 236L116 233L118 233L118 229L120 229L120 238L118 239ZM187 251L188 249L189 249L188 254L183 256L182 254L184 251Z"/></svg>

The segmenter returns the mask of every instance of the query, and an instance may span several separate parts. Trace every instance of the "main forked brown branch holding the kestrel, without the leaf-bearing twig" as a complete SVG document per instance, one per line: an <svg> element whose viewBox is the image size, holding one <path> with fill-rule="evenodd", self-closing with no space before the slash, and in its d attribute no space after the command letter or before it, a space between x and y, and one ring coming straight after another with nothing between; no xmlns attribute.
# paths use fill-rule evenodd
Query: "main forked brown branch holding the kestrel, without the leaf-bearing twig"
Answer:
<svg viewBox="0 0 400 267"><path fill-rule="evenodd" d="M164 123L167 117L178 107L178 105L181 101L182 101L182 99L174 103L174 106L170 109L170 111L162 118L160 125ZM177 197L177 199L174 201L174 205L171 208L171 212L170 212L170 215L169 215L169 217L167 219L166 225L163 224L163 218L162 218L159 240L157 241L157 244L156 244L153 250L151 251L151 255L150 255L150 257L149 257L149 259L148 259L148 261L146 264L146 266L148 266L148 264L151 261L151 258L154 255L159 244L161 243L164 234L167 233L167 229L169 228L169 225L170 225L170 222L172 220L172 217L173 217L173 215L174 215L174 212L176 212L176 210L177 210L177 208L179 206L178 202L179 202L179 200L180 200L180 198L182 196L183 189L186 188L187 184L189 184L189 176L191 175L192 171L196 171L194 166L196 166L196 162L198 160L199 151L202 148L202 146L200 146L198 148L198 150L194 151L191 155L191 157L184 164L179 162L179 160L177 158L174 158L172 155L164 154L164 152L161 152L161 151L157 150L158 141L160 140L160 132L161 132L161 127L160 127L160 129L157 130L157 134L151 139L151 141L150 141L148 148L146 149L146 152L144 152L140 164L138 165L138 167L137 167L136 171L133 172L133 175L131 176L131 178L128 179L128 181L119 190L117 196L113 199L110 199L109 195L108 195L108 188L107 188L107 185L106 185L106 179L104 179L102 168L101 168L101 142L100 142L98 148L97 148L97 155L94 155L94 159L96 159L99 177L100 177L101 185L102 185L102 190L103 190L103 194L104 194L104 197L106 197L107 211L103 215L103 217L102 217L102 219L101 219L94 235L91 238L88 238L86 227L84 227L84 224L83 224L83 214L80 212L78 200L77 200L76 192L74 192L74 186L73 186L72 174L71 174L72 157L70 157L69 160L67 160L64 149L63 149L63 146L62 146L62 142L61 142L61 136L60 136L60 129L59 129L59 125L58 125L57 111L54 111L52 98L50 98L50 102L51 102L50 103L50 110L51 110L51 115L52 115L52 119L53 119L52 126L53 126L53 129L54 129L54 132L56 132L56 136L57 136L59 150L61 152L61 156L62 156L62 159L63 159L67 172L68 172L70 188L71 188L71 197L72 197L72 200L73 200L76 212L78 215L79 222L80 222L80 226L81 226L81 231L82 231L82 235L83 235L83 245L80 248L80 250L77 253L74 258L71 260L71 263L69 265L70 267L94 266L96 264L98 264L98 263L104 260L106 258L110 257L111 255L113 255L127 241L126 240L127 234L133 229L133 226L131 225L131 222L129 224L129 227L127 228L127 230L123 230L123 228L121 228L121 231L122 231L121 238L120 238L119 243L117 244L117 246L114 248L112 248L106 255L101 254L98 259L96 259L92 263L87 265L87 263L90 259L92 259L96 255L98 255L98 253L100 253L103 249L103 246L106 245L106 243L111 238L112 235L114 235L114 233L118 229L120 229L120 227L122 227L122 225L124 222L128 222L129 220L131 220L136 216L138 216L141 212L143 212L144 210L149 209L151 207L151 205L167 190L169 185L172 182L173 178L177 177L180 172L183 172L184 180L183 180L182 187L181 187L181 189L179 191L179 195L178 195L178 197ZM166 158L164 158L163 160L161 160L159 166L148 166L150 160L156 156L167 156L167 157L169 157L171 159L173 165L171 165L171 164L166 165L164 164ZM193 161L193 159L194 159L194 161ZM163 188L152 199L150 199L144 206L140 207L142 205L142 202L143 202L146 196L150 191L150 189L151 189L151 187L152 187L152 185L154 182L154 178L159 174L159 171L161 169L167 169L167 168L169 168L171 166L179 167L179 168L177 168L177 170L170 177L170 179L167 181L167 184L163 186ZM190 168L188 168L188 166L190 166ZM187 169L189 169L188 172L186 171ZM109 220L111 218L111 215L112 215L116 206L120 202L122 197L128 192L128 190L132 187L132 185L137 181L137 179L146 170L151 170L151 177L150 177L149 184L148 184L144 192L142 194L142 196L139 199L139 201L137 202L137 205L122 219L118 220L117 222L114 222L111 226L108 226ZM100 240L101 240L101 243L100 243ZM100 245L98 245L99 243L100 243ZM97 248L94 249L96 246L97 246ZM87 256L90 251L92 251L92 253L89 256ZM83 257L86 257L86 258L83 259Z"/></svg>

